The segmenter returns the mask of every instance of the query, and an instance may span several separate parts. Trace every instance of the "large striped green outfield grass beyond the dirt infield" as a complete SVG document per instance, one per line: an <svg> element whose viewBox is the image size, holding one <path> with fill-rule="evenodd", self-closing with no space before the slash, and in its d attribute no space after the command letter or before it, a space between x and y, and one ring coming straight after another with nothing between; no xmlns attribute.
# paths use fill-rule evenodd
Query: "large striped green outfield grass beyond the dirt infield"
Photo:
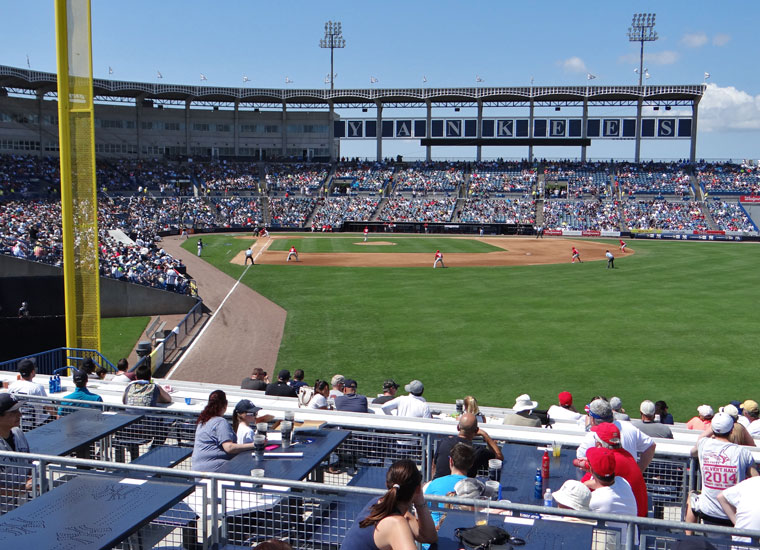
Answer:
<svg viewBox="0 0 760 550"><path fill-rule="evenodd" d="M204 258L239 277L229 260L246 241L203 240ZM451 252L458 240L422 241ZM760 397L760 246L629 246L636 254L618 255L615 270L257 265L243 282L288 311L278 369L302 368L308 381L339 372L367 395L388 377L422 380L432 401L471 394L493 406L529 393L545 408L568 390L581 407L617 395L634 415L642 399L665 399L678 420L701 403Z"/></svg>

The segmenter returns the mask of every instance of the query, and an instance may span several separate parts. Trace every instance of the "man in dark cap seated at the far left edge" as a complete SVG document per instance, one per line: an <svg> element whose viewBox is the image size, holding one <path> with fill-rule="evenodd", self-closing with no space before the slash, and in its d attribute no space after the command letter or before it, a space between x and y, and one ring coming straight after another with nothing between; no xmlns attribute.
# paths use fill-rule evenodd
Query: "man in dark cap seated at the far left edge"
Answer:
<svg viewBox="0 0 760 550"><path fill-rule="evenodd" d="M0 450L29 452L29 442L21 430L21 401L12 393L0 393ZM0 457L0 514L22 504L32 490L31 470L13 465L21 463Z"/></svg>

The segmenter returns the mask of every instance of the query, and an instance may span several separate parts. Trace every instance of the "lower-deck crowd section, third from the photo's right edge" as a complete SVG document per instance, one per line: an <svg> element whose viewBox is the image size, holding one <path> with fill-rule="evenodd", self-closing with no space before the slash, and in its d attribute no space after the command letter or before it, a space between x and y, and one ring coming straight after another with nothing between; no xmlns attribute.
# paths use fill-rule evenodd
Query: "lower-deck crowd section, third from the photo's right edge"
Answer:
<svg viewBox="0 0 760 550"><path fill-rule="evenodd" d="M544 201L544 226L548 229L620 230L617 204L611 201Z"/></svg>

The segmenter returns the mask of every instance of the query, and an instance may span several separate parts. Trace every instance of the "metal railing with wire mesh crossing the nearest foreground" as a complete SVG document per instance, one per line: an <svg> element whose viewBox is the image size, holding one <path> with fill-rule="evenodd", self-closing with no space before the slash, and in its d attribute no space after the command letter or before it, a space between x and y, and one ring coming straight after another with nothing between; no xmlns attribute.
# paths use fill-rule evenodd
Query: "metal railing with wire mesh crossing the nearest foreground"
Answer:
<svg viewBox="0 0 760 550"><path fill-rule="evenodd" d="M24 484L26 487L28 480L34 487L24 495L25 501L35 498L41 492L55 490L78 476L111 476L112 479L119 476L119 479L133 479L135 483L149 481L148 476L152 476L162 481L192 483L194 490L189 497L140 530L144 547L174 545L209 548L220 543L250 547L255 542L276 537L287 540L298 549L334 549L339 547L363 505L371 498L384 494L382 490L362 487L325 486L312 482L0 451L0 464L9 461L27 465L22 476L29 477L24 480ZM0 502L7 501L8 498L8 495L0 494ZM471 510L476 504L471 499L432 495L426 500L436 508L441 503L449 509ZM19 502L14 506L23 504ZM639 548L647 550L670 548L685 530L709 534L710 542L721 550L742 548L745 545L747 548L756 547L760 541L760 531L545 508L507 501L490 501L488 507L492 514L504 514L505 519L506 515L511 515L526 517L527 521L559 519L558 516L587 520L593 523L597 540L601 537L602 540L609 541L609 537L614 537L622 527L627 536L620 541L620 547L627 550L633 550L636 543L639 543ZM463 523L474 523L465 514L456 517ZM637 533L640 537L637 537ZM732 541L731 535L752 537L753 542ZM609 548L612 545L605 546Z"/></svg>

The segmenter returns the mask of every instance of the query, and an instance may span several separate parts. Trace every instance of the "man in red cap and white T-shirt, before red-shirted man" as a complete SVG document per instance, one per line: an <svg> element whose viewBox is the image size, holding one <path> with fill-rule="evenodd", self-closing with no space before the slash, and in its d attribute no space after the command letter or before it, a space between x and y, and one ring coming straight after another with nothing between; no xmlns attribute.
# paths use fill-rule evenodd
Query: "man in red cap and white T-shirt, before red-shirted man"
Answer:
<svg viewBox="0 0 760 550"><path fill-rule="evenodd" d="M591 489L589 508L592 512L636 515L636 497L628 482L622 477L615 477L615 453L612 449L593 447L586 451L592 478L586 482ZM620 527L620 540L626 540L626 524L609 523Z"/></svg>

